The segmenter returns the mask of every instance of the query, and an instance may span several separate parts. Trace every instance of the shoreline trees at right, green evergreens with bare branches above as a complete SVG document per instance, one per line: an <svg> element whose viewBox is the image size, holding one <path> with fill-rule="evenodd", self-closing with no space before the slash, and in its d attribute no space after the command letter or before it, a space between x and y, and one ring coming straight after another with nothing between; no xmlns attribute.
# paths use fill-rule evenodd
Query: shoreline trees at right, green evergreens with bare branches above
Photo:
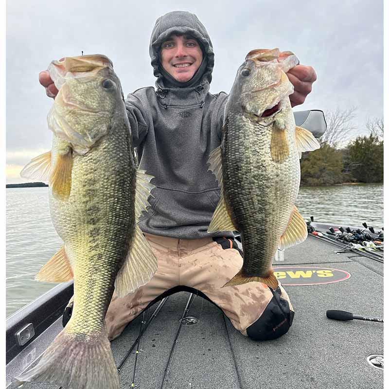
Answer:
<svg viewBox="0 0 389 389"><path fill-rule="evenodd" d="M302 154L301 186L384 181L384 120L369 119L369 135L350 139L355 107L326 113L327 131L320 148Z"/></svg>

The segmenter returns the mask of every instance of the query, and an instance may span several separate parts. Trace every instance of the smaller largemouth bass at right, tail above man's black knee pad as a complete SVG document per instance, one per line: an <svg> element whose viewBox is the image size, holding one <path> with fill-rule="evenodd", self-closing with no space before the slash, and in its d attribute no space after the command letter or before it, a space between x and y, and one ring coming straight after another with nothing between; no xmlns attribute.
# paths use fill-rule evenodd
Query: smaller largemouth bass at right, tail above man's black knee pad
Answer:
<svg viewBox="0 0 389 389"><path fill-rule="evenodd" d="M277 248L307 237L295 206L299 159L320 146L294 121L293 85L285 73L298 63L291 52L253 50L231 88L222 143L209 159L221 199L208 232L239 231L243 243L242 269L224 286L258 281L275 289L271 263Z"/></svg>

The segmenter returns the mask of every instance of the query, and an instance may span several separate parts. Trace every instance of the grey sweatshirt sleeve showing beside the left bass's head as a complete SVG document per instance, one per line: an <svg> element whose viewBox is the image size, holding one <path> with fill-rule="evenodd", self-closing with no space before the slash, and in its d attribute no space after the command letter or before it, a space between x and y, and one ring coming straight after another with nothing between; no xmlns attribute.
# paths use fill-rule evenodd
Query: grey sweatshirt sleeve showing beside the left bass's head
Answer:
<svg viewBox="0 0 389 389"><path fill-rule="evenodd" d="M137 92L130 93L125 101L134 147L138 147L146 136L150 120L149 109L144 107L141 96L137 96Z"/></svg>

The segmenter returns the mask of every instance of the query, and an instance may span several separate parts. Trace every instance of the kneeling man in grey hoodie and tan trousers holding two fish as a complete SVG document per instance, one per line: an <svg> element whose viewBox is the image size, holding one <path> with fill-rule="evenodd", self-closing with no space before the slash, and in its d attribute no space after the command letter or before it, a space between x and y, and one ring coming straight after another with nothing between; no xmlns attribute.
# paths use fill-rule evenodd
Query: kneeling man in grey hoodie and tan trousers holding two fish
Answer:
<svg viewBox="0 0 389 389"><path fill-rule="evenodd" d="M256 340L285 334L293 308L281 285L222 286L241 268L233 234L207 232L220 191L207 160L220 145L228 95L209 92L214 54L198 18L182 11L160 17L150 41L156 86L128 95L126 109L140 168L155 177L151 208L139 225L158 259L149 283L124 298L114 294L106 314L110 339L121 334L150 301L185 285L217 304L243 335ZM303 103L316 80L310 67L288 72L295 87L292 106ZM47 72L39 75L47 94L57 93Z"/></svg>

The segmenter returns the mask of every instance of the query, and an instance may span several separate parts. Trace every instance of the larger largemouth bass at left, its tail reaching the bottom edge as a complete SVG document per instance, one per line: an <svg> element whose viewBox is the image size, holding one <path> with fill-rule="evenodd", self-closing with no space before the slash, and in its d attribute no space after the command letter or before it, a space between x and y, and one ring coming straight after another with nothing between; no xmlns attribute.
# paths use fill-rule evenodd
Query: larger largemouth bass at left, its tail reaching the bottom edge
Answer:
<svg viewBox="0 0 389 389"><path fill-rule="evenodd" d="M53 61L49 72L59 89L48 115L53 147L22 175L49 181L51 216L64 241L36 279L74 278L74 305L66 327L15 384L119 389L105 315L114 288L125 296L157 270L137 226L153 177L137 171L123 91L111 61L103 55L68 57Z"/></svg>

